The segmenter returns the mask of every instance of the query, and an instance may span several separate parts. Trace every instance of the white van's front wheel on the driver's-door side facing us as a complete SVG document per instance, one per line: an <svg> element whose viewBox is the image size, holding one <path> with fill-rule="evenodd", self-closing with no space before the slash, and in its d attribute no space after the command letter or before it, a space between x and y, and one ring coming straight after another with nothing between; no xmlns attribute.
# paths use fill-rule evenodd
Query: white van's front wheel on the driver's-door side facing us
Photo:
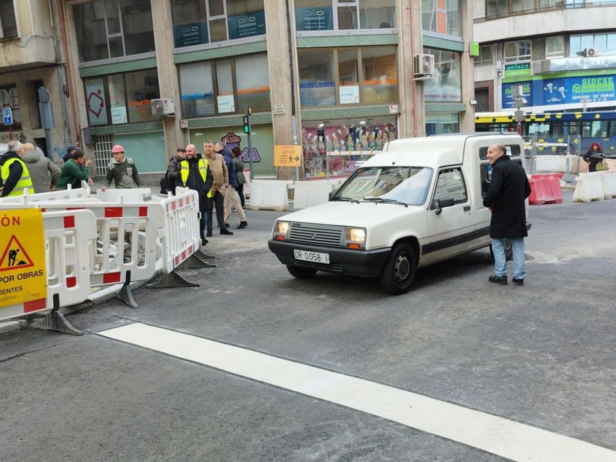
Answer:
<svg viewBox="0 0 616 462"><path fill-rule="evenodd" d="M415 280L416 269L417 260L413 248L408 244L398 244L392 249L379 275L381 289L393 295L407 293Z"/></svg>

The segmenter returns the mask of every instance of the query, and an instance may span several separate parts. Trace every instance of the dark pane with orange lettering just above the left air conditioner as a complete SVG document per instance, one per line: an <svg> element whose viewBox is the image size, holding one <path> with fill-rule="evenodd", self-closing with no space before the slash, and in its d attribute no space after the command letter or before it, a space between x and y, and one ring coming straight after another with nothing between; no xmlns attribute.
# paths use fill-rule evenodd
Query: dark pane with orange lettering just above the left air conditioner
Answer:
<svg viewBox="0 0 616 462"><path fill-rule="evenodd" d="M156 69L124 75L128 97L128 118L131 122L158 120L152 115L152 100L160 98Z"/></svg>

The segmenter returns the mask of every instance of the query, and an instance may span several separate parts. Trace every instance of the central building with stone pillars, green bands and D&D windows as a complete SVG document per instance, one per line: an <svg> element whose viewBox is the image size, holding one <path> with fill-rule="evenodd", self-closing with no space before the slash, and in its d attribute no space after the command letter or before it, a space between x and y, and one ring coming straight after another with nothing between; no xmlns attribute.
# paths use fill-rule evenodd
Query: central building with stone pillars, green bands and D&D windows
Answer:
<svg viewBox="0 0 616 462"><path fill-rule="evenodd" d="M240 147L255 176L294 176L274 166L280 144L302 145L301 177L343 176L387 140L472 129L466 1L52 3L68 90L56 96L98 176L113 144L160 177L178 146L208 139ZM415 79L420 53L435 56L434 78ZM174 101L172 115L152 115L161 98Z"/></svg>

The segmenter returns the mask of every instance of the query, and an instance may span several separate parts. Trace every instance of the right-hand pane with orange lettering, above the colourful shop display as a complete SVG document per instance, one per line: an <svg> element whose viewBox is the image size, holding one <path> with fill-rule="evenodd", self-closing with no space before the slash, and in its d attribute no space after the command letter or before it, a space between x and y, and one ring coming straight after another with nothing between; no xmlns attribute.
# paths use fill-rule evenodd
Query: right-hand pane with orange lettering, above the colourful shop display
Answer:
<svg viewBox="0 0 616 462"><path fill-rule="evenodd" d="M395 48L362 48L363 104L398 100Z"/></svg>

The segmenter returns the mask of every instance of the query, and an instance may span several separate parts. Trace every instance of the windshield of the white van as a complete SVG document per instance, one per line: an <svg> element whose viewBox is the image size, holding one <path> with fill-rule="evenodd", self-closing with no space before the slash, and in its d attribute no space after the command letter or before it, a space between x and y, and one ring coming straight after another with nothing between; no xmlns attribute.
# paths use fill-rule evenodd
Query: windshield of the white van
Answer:
<svg viewBox="0 0 616 462"><path fill-rule="evenodd" d="M432 169L427 167L360 168L331 200L380 198L407 205L422 205L426 201L431 179Z"/></svg>

